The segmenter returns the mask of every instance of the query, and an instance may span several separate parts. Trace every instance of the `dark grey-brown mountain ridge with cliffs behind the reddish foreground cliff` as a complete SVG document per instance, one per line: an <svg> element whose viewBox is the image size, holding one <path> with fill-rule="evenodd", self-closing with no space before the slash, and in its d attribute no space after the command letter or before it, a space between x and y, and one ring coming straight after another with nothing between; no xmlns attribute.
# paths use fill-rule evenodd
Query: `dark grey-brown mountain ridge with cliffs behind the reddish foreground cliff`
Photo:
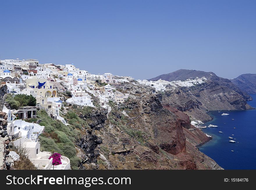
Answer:
<svg viewBox="0 0 256 190"><path fill-rule="evenodd" d="M248 94L243 93L230 80L218 77L212 72L182 69L150 80L161 78L172 81L196 77L206 77L207 80L193 87L167 89L163 93L162 104L173 106L191 118L203 121L211 119L207 115L208 111L252 109L246 103L246 100L251 100Z"/></svg>

